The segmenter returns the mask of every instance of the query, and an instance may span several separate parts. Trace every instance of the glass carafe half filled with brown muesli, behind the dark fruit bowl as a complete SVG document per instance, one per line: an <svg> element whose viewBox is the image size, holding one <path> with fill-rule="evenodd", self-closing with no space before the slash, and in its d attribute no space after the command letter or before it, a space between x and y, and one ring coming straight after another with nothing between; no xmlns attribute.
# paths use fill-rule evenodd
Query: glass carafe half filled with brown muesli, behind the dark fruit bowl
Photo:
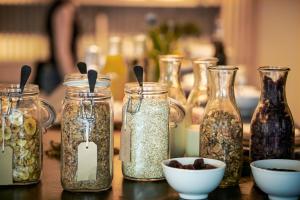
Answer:
<svg viewBox="0 0 300 200"><path fill-rule="evenodd" d="M243 163L243 124L234 97L237 67L208 67L209 97L200 125L200 156L226 163L220 187L239 183Z"/></svg>

